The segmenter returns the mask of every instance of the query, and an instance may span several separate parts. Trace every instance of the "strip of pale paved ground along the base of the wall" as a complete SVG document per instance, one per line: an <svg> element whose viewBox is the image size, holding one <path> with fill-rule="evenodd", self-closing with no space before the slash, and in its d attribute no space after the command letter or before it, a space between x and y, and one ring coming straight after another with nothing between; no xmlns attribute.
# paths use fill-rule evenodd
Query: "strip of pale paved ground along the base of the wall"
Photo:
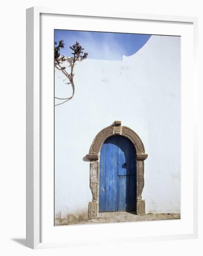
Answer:
<svg viewBox="0 0 203 256"><path fill-rule="evenodd" d="M88 219L85 216L70 216L67 219L56 219L55 225L91 224L91 223L112 223L112 222L138 222L180 219L180 214L145 214L138 216L135 212L103 212L98 218Z"/></svg>

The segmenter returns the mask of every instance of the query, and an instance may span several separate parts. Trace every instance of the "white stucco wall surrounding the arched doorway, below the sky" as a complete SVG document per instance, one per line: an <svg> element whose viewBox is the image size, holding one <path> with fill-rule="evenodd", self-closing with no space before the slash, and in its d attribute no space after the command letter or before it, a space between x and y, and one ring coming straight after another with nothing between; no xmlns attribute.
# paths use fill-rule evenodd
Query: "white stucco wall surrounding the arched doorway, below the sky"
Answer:
<svg viewBox="0 0 203 256"><path fill-rule="evenodd" d="M74 98L55 107L55 213L88 210L89 162L97 133L115 120L144 142L146 213L180 212L180 38L151 36L123 61L77 63ZM55 96L71 95L55 72Z"/></svg>

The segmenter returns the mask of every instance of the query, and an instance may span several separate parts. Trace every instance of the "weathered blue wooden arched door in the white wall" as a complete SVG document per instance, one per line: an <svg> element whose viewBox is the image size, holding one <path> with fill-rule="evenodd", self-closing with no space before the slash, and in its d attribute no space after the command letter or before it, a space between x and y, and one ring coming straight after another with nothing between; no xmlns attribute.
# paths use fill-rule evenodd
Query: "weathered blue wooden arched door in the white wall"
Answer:
<svg viewBox="0 0 203 256"><path fill-rule="evenodd" d="M109 137L100 151L99 211L132 211L136 202L136 152L126 137Z"/></svg>

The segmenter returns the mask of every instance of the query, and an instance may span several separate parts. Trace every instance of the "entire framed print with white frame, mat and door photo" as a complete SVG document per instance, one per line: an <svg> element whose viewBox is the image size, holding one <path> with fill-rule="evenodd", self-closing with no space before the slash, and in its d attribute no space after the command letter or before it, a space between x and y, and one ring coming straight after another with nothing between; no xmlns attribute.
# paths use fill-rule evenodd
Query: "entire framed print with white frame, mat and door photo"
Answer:
<svg viewBox="0 0 203 256"><path fill-rule="evenodd" d="M196 23L27 9L28 247L197 236Z"/></svg>

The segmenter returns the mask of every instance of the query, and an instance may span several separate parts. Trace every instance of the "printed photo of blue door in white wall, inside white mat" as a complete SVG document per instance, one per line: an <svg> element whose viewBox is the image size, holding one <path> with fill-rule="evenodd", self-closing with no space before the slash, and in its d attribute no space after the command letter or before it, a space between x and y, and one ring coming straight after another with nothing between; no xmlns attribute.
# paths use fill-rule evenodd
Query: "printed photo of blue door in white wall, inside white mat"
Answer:
<svg viewBox="0 0 203 256"><path fill-rule="evenodd" d="M181 36L59 28L53 45L54 225L178 221Z"/></svg>

